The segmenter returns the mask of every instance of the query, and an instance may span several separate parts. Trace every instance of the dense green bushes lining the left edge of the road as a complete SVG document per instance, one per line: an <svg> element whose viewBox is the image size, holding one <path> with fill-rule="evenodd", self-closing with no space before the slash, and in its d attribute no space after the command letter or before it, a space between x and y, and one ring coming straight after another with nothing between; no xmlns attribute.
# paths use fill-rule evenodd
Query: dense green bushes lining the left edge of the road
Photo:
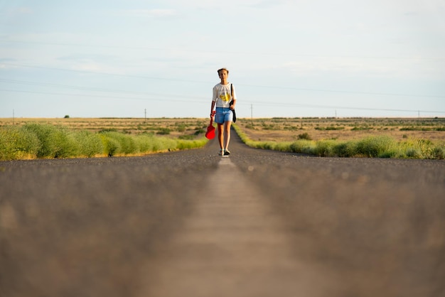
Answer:
<svg viewBox="0 0 445 297"><path fill-rule="evenodd" d="M68 126L27 123L0 126L0 161L32 158L141 156L162 151L199 148L207 143L199 126L191 135L168 136L165 126L137 134L117 129L90 131Z"/></svg>

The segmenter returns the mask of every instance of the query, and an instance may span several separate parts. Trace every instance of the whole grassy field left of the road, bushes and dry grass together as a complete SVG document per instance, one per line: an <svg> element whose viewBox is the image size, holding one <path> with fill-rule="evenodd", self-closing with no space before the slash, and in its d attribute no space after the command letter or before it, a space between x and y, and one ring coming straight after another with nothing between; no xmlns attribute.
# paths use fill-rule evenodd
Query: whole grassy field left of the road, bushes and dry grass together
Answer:
<svg viewBox="0 0 445 297"><path fill-rule="evenodd" d="M207 143L202 119L0 119L0 161L142 156Z"/></svg>

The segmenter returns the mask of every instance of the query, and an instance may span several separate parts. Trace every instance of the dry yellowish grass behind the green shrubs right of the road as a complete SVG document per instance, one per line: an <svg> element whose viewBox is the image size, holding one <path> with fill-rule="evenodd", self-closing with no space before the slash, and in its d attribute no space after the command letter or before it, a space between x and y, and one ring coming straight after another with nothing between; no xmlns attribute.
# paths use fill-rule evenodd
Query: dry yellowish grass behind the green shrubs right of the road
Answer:
<svg viewBox="0 0 445 297"><path fill-rule="evenodd" d="M380 135L396 140L445 141L445 131L437 131L445 129L445 119L240 119L237 125L254 141L295 141L306 133L316 141Z"/></svg>

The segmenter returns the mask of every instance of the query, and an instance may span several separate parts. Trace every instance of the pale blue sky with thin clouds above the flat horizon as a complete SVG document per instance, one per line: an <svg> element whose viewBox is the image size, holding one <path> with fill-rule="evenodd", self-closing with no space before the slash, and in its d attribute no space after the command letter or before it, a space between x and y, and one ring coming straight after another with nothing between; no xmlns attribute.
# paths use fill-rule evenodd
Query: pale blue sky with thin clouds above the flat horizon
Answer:
<svg viewBox="0 0 445 297"><path fill-rule="evenodd" d="M0 117L445 117L445 0L0 0Z"/></svg>

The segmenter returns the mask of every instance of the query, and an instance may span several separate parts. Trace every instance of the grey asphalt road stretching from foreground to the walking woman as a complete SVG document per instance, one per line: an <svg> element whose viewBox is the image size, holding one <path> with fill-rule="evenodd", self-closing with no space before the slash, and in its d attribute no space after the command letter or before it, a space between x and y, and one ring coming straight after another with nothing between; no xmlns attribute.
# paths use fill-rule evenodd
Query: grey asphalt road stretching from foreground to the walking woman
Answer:
<svg viewBox="0 0 445 297"><path fill-rule="evenodd" d="M0 162L0 296L445 296L445 162Z"/></svg>

